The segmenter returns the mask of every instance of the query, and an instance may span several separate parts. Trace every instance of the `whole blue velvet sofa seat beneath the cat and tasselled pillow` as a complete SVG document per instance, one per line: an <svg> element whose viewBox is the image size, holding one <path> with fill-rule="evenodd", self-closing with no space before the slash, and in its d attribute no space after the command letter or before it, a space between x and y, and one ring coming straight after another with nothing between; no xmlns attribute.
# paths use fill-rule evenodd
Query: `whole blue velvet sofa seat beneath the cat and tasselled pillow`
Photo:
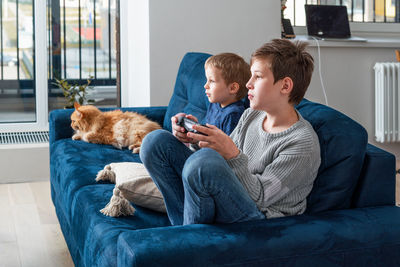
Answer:
<svg viewBox="0 0 400 267"><path fill-rule="evenodd" d="M56 174L51 178L52 199L77 266L116 266L121 232L170 225L164 213L135 204L134 216L112 218L100 212L114 184L96 183L97 172L111 162L138 162L138 154L72 139L54 142L50 151Z"/></svg>

